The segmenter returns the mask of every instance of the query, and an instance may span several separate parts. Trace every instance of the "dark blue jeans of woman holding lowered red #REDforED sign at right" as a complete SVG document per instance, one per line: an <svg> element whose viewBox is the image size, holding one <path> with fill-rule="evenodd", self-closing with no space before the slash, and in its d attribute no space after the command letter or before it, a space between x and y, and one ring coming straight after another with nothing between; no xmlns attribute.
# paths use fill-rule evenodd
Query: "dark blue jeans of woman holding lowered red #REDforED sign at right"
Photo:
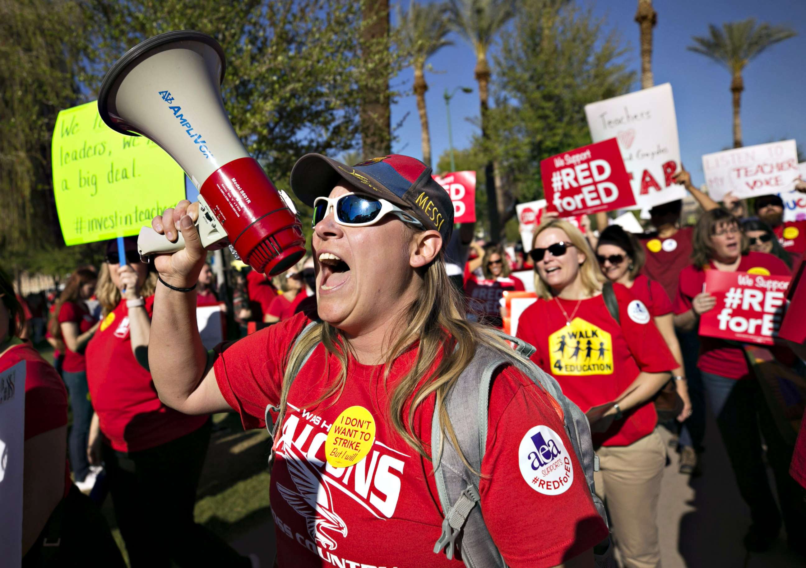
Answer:
<svg viewBox="0 0 806 568"><path fill-rule="evenodd" d="M755 378L737 381L711 373L703 373L702 378L733 475L742 499L750 507L753 523L775 529L780 526L783 513L787 535L806 534L806 514L802 505L804 491L789 476L794 448L783 440L775 426L758 382ZM767 442L767 461L775 477L781 512L767 481L761 436Z"/></svg>

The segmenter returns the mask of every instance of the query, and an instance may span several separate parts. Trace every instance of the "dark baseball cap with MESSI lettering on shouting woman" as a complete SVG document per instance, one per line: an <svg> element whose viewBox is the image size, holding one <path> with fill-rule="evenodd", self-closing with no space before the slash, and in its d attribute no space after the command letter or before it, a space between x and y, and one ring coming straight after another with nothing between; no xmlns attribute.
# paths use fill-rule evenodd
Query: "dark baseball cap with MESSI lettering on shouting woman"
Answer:
<svg viewBox="0 0 806 568"><path fill-rule="evenodd" d="M442 247L447 247L453 232L453 203L422 161L389 154L346 165L322 154L305 154L291 170L291 190L310 207L314 207L314 199L327 196L342 181L356 194L386 199L410 211L426 228L440 232Z"/></svg>

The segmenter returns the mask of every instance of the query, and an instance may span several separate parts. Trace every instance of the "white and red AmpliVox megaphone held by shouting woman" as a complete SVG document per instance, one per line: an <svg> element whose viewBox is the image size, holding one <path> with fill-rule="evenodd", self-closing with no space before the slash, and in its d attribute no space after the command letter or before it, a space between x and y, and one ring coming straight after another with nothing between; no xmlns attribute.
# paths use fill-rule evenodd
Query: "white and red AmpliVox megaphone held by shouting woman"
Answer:
<svg viewBox="0 0 806 568"><path fill-rule="evenodd" d="M205 248L229 239L258 272L280 274L305 255L293 201L249 156L224 110L221 45L200 31L168 31L135 45L106 73L98 112L107 126L145 136L168 152L199 189L197 228ZM185 247L150 227L141 257Z"/></svg>

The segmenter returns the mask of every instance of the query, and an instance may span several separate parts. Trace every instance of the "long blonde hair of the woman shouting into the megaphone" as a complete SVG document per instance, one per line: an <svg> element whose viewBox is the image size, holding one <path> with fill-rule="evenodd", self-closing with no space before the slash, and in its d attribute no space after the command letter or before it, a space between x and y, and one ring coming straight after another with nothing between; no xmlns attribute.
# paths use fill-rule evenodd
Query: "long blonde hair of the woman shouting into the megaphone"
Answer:
<svg viewBox="0 0 806 568"><path fill-rule="evenodd" d="M412 232L413 234L413 232ZM478 345L487 345L507 357L510 361L527 361L517 355L509 345L492 331L481 324L465 319L463 300L459 290L451 284L445 270L445 255L440 251L438 258L430 265L418 269L414 275L421 283L418 297L405 312L405 320L401 323L403 332L395 344L388 349L384 357L384 384L388 379L393 362L409 347L417 342L417 357L409 370L394 387L389 397L388 414L395 431L405 442L422 456L430 459L430 455L422 441L413 431L414 413L431 394L436 395L434 412L438 413L442 432L455 447L465 464L465 459L447 410L443 402L459 374L467 367L476 354ZM344 340L339 329L326 322L318 323L307 335L297 340L287 355L285 375L280 392L280 416L277 423L282 425L289 398L289 388L294 368L302 357L314 349L319 342L325 345L328 353L339 361L341 369L333 384L317 399L313 405L322 403L332 395L341 395L347 382L347 353L351 350L349 342ZM442 351L442 359L436 369L430 371L434 361ZM327 357L328 361L330 357ZM326 370L325 376L329 376ZM440 440L432 440L431 444L442 444ZM441 445L438 447L442 447Z"/></svg>

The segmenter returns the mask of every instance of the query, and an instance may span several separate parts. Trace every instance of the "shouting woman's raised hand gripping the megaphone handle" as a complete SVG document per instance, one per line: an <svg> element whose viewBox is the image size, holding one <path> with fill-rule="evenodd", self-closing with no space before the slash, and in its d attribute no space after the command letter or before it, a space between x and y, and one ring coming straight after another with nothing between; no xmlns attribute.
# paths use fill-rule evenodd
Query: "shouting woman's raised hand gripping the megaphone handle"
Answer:
<svg viewBox="0 0 806 568"><path fill-rule="evenodd" d="M152 219L152 228L166 239L177 242L177 231L181 231L185 239L185 248L154 257L154 268L160 273L160 278L172 286L195 286L207 256L194 224L198 219L198 207L198 202L182 199L177 207L168 208Z"/></svg>

